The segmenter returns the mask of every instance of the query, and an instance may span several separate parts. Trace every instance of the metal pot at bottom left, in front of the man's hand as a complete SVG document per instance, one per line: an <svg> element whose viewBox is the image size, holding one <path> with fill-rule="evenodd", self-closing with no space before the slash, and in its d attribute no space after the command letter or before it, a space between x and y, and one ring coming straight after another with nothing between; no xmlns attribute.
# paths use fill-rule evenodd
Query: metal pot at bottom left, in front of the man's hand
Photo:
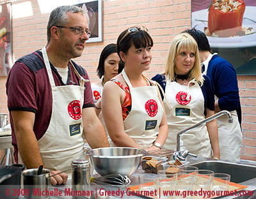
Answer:
<svg viewBox="0 0 256 199"><path fill-rule="evenodd" d="M28 199L48 199L49 195L43 195L50 191L51 189L51 178L49 177L51 170L43 168L42 173L38 175L38 168L31 168L24 170L23 175L23 184L24 189L29 190L29 194L24 196Z"/></svg>

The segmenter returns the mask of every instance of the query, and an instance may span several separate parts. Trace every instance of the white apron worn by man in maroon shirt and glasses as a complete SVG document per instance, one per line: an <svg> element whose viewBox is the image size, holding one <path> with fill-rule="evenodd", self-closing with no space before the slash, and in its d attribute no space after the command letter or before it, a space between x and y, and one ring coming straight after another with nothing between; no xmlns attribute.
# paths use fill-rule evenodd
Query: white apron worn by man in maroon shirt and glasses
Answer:
<svg viewBox="0 0 256 199"><path fill-rule="evenodd" d="M80 77L80 85L56 86L45 47L42 53L52 89L52 114L49 127L38 140L38 145L45 168L64 171L71 168L73 159L84 158L81 114L85 80L72 66ZM71 171L66 173L70 176Z"/></svg>

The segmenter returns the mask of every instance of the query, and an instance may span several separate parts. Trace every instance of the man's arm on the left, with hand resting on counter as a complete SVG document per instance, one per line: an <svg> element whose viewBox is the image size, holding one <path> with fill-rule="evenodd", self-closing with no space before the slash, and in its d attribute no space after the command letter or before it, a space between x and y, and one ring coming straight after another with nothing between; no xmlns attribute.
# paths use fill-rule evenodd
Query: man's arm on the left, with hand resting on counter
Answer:
<svg viewBox="0 0 256 199"><path fill-rule="evenodd" d="M44 165L40 155L38 142L33 131L35 114L28 111L13 110L11 115L22 162L26 168L38 168L40 165ZM52 171L51 174L58 172L60 171ZM51 183L52 185L66 184L67 179L68 175L66 173L61 173L60 175L51 177Z"/></svg>

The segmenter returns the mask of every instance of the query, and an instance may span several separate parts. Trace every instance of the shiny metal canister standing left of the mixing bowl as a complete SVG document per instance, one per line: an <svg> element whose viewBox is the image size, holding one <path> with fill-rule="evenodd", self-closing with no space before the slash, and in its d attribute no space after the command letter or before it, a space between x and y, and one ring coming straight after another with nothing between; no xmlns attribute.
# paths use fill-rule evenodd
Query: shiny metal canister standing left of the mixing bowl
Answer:
<svg viewBox="0 0 256 199"><path fill-rule="evenodd" d="M72 191L90 191L90 162L87 159L75 159L71 168Z"/></svg>

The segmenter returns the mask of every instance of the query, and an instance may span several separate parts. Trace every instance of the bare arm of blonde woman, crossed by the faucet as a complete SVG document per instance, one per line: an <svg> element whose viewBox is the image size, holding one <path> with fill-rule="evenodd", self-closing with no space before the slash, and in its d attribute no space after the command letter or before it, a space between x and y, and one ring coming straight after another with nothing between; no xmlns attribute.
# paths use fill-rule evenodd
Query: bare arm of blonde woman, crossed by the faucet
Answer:
<svg viewBox="0 0 256 199"><path fill-rule="evenodd" d="M206 108L206 118L214 115L214 111ZM218 125L216 119L206 123L207 131L212 145L213 158L220 158Z"/></svg>

